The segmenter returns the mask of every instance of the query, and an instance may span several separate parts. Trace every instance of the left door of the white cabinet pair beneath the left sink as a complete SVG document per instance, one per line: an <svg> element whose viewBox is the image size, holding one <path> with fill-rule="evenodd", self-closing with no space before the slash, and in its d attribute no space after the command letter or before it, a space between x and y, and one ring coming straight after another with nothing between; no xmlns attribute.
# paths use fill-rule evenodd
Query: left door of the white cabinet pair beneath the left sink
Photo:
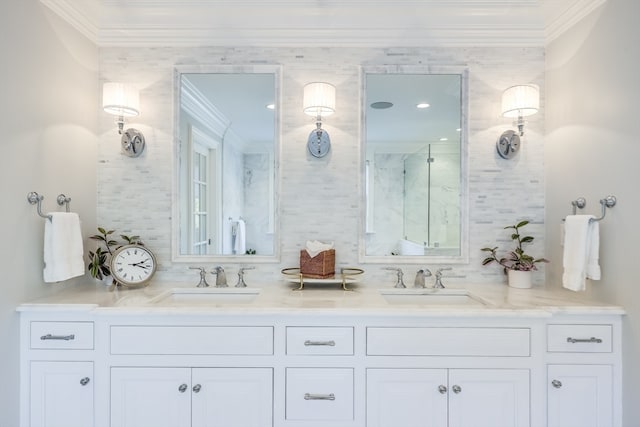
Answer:
<svg viewBox="0 0 640 427"><path fill-rule="evenodd" d="M111 427L190 426L191 369L111 369Z"/></svg>

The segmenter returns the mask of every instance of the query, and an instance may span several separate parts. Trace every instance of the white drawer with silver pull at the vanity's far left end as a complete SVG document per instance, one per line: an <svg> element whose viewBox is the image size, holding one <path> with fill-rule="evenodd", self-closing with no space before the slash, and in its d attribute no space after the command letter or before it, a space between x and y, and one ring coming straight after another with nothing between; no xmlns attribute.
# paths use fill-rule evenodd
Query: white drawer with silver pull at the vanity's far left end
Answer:
<svg viewBox="0 0 640 427"><path fill-rule="evenodd" d="M92 350L93 322L31 322L31 348Z"/></svg>

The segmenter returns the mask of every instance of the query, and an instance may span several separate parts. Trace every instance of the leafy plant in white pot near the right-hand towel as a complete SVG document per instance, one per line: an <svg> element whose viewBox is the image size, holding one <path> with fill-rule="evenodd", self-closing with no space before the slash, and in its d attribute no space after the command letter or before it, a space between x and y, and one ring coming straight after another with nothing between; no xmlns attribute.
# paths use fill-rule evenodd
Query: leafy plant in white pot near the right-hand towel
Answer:
<svg viewBox="0 0 640 427"><path fill-rule="evenodd" d="M489 252L490 256L482 261L482 265L488 265L497 262L503 267L504 273L508 276L509 286L514 288L530 288L531 272L537 270L537 263L549 262L545 258L534 258L525 253L523 246L533 242L532 236L523 236L520 229L529 224L529 221L520 221L515 225L505 227L505 230L513 229L511 240L516 243L514 250L510 251L505 257L498 258L498 247L482 248L484 252Z"/></svg>

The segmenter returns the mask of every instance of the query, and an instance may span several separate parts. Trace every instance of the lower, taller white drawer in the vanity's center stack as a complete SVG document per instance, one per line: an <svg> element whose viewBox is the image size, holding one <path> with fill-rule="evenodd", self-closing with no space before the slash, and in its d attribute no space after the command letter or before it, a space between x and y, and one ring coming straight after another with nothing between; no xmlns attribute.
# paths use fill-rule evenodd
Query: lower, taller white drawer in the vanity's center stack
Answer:
<svg viewBox="0 0 640 427"><path fill-rule="evenodd" d="M353 419L353 369L287 368L286 419Z"/></svg>

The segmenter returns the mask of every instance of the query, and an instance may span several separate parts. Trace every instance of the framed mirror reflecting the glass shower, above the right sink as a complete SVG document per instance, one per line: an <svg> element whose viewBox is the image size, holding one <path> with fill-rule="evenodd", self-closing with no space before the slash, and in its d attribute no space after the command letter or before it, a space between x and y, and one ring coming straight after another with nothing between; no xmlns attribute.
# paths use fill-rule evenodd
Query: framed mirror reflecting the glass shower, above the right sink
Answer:
<svg viewBox="0 0 640 427"><path fill-rule="evenodd" d="M363 69L360 258L463 263L467 250L467 76Z"/></svg>

